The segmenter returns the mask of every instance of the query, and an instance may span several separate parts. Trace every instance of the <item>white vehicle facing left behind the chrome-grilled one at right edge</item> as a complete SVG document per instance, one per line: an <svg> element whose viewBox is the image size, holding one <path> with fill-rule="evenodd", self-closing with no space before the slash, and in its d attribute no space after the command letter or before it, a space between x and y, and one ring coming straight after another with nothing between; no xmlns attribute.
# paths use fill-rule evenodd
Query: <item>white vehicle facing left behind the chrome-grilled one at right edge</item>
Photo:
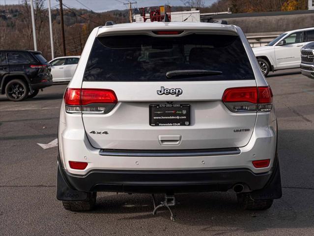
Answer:
<svg viewBox="0 0 314 236"><path fill-rule="evenodd" d="M300 67L300 49L312 41L314 27L285 32L266 46L252 49L261 71L266 76L271 70Z"/></svg>

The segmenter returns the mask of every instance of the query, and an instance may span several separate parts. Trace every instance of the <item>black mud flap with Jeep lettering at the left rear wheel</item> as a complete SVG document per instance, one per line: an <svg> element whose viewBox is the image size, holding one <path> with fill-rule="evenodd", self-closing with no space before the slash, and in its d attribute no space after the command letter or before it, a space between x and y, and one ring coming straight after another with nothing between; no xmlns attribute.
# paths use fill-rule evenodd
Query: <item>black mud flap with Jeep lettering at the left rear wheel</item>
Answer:
<svg viewBox="0 0 314 236"><path fill-rule="evenodd" d="M87 193L71 189L64 178L57 163L57 200L60 201L84 201L87 199Z"/></svg>

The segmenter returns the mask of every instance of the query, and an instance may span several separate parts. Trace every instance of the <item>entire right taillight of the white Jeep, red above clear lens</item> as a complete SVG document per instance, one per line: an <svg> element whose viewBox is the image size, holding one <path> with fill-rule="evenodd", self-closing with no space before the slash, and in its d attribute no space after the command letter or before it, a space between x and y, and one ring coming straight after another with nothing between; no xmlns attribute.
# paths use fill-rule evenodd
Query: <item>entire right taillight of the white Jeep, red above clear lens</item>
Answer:
<svg viewBox="0 0 314 236"><path fill-rule="evenodd" d="M222 101L232 112L270 111L273 94L267 87L239 87L226 89Z"/></svg>

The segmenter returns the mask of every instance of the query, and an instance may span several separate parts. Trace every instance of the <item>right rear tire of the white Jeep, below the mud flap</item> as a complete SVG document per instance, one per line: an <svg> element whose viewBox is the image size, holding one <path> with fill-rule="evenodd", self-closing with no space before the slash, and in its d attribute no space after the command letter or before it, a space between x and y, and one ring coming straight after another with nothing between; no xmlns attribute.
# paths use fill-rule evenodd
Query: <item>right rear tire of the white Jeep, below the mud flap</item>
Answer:
<svg viewBox="0 0 314 236"><path fill-rule="evenodd" d="M253 200L249 193L237 194L238 203L244 210L266 210L273 204L272 199Z"/></svg>

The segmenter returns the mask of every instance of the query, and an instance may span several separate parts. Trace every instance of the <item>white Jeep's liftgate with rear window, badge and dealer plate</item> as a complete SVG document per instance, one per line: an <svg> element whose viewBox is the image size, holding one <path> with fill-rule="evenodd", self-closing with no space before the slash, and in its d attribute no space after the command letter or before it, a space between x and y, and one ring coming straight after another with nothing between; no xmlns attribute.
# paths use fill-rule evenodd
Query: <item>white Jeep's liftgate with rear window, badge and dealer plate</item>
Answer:
<svg viewBox="0 0 314 236"><path fill-rule="evenodd" d="M98 37L82 83L86 135L101 149L245 146L257 116L249 98L256 86L238 35L161 30ZM223 95L235 87L248 101L230 108Z"/></svg>

